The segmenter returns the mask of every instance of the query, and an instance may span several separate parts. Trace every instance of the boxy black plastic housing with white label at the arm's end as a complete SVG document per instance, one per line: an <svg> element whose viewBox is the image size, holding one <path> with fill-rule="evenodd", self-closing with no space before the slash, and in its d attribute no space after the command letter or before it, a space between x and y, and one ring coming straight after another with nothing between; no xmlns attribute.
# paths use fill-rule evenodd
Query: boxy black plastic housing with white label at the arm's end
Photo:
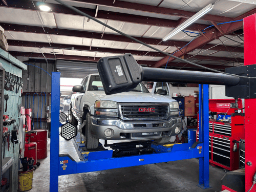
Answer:
<svg viewBox="0 0 256 192"><path fill-rule="evenodd" d="M97 68L106 95L131 91L141 82L141 67L131 53L102 57Z"/></svg>

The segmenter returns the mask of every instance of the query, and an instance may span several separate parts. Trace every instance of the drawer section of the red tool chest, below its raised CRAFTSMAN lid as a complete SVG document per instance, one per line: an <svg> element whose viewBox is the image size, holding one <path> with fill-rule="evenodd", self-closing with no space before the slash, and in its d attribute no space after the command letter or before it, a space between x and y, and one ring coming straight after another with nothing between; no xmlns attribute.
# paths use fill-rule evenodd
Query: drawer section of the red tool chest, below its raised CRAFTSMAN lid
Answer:
<svg viewBox="0 0 256 192"><path fill-rule="evenodd" d="M209 162L227 170L238 169L239 151L233 152L233 141L240 138L244 139L244 114L232 114L231 123L209 121Z"/></svg>

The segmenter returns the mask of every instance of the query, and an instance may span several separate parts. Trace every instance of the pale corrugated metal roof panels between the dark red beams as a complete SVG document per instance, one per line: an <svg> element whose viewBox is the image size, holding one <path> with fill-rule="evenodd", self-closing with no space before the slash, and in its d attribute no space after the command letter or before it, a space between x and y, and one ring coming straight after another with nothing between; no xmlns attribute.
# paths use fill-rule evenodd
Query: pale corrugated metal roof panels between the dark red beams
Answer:
<svg viewBox="0 0 256 192"><path fill-rule="evenodd" d="M215 2L212 0L184 0L184 1L188 5L186 5L183 1L165 0L160 4L160 7L197 12L202 8L204 8L206 5ZM46 2L56 3L53 0L47 0ZM84 7L89 9L96 8L95 5L82 3L82 2L75 2L75 1L68 1L68 0L65 0L65 2L77 7ZM157 6L161 2L161 0L155 0L155 1L127 0L126 2ZM236 17L253 8L256 8L256 5L222 0L215 4L215 7L210 12L210 14ZM136 10L121 9L121 8L106 7L106 6L99 6L98 11L100 12L101 10L126 13L126 14L130 14L131 17L133 15L141 15L146 17L155 17L159 19L162 18L162 19L171 19L171 20L178 20L180 18L178 16L168 15L168 13L156 14L156 13L150 13L145 11L136 11ZM127 33L135 37L162 39L165 35L167 35L169 32L173 30L172 28L167 28L167 27L151 26L151 25L148 25L147 23L142 25L142 24L135 24L135 23L128 23L128 22L121 22L118 20L107 20L107 19L99 19L99 20L101 20L101 22L103 23L107 23L108 25L124 33ZM97 33L103 34L103 36L104 34L118 34L113 30L105 28L104 26L94 22L91 19L89 20L88 18L83 16L59 14L59 13L53 14L52 12L40 12L40 11L14 9L14 8L6 8L6 7L0 7L0 22L10 23L10 24L19 24L19 25L42 26L42 27L58 28L58 29L90 31L90 32L97 32ZM196 23L212 25L210 22L207 22L206 20L197 20ZM197 32L197 31L190 30L189 34L191 36L195 36L196 34L193 32ZM19 31L6 30L5 35L7 36L7 39L11 39L11 40L25 40L25 41L49 43L49 48L42 48L40 50L39 48L32 48L32 47L25 47L25 46L10 46L10 49L9 49L10 51L18 51L18 52L35 52L35 53L43 52L43 53L53 54L53 51L54 51L57 54L77 55L77 56L86 56L86 57L103 57L103 56L118 55L115 53L111 53L111 50L110 52L102 53L102 52L93 52L93 51L53 49L54 44L62 44L62 45L67 44L67 45L80 45L80 46L88 46L88 47L92 46L92 47L98 47L98 48L120 49L120 50L123 50L123 53L129 52L129 50L155 52L155 50L151 50L150 48L147 48L145 46L142 46L134 42L94 39L93 36L92 38L74 37L72 36L72 33L70 34L70 36L63 36L63 35L36 34L36 33L33 33L33 31L19 32ZM233 35L226 35L226 36L228 38L232 38L235 41L243 43L243 40L241 40L239 37L234 37ZM241 38L243 39L243 36L241 36ZM193 37L189 37L188 35L182 32L172 37L172 40L185 41L185 42L189 42L192 39ZM229 40L226 37L220 37L220 40L224 42L225 46L243 47L242 44ZM213 46L214 45L223 46L220 40L215 39L209 42L209 44L212 44ZM50 48L50 47L53 47L53 48ZM154 47L160 50L165 50L166 52L169 52L169 53L172 53L177 50L177 48L175 47L168 47L168 46L154 45ZM192 56L192 55L198 54L199 51L200 49L197 49L188 54ZM237 52L229 53L229 51L232 51L232 50L216 51L216 50L203 49L198 55L204 55L204 56L209 55L212 57L218 56L218 57L230 57L230 58L233 58L234 56L234 57L243 58L243 53L237 53ZM135 58L139 60L158 61L163 57L135 55ZM203 61L200 61L199 63L213 64L215 62L203 60Z"/></svg>

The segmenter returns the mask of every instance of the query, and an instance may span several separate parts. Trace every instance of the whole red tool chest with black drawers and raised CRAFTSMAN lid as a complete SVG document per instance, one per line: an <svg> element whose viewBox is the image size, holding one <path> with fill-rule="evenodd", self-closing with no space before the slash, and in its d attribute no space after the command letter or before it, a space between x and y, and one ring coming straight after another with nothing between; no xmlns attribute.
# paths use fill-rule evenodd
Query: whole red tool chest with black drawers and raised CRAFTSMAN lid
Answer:
<svg viewBox="0 0 256 192"><path fill-rule="evenodd" d="M226 122L209 119L209 162L227 170L236 170L239 169L239 150L234 152L233 146L240 138L245 138L244 113L231 109L231 102L234 102L234 99L209 100L209 111L217 112L217 116L226 113L231 116L231 120ZM238 103L241 109L242 100L239 99ZM237 145L239 147L239 143Z"/></svg>

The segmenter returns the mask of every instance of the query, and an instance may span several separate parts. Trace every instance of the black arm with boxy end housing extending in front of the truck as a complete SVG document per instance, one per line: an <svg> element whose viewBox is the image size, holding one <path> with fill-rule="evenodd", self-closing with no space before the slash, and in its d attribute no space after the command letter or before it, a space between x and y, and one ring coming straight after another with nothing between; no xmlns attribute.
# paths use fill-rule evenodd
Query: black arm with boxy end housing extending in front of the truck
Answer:
<svg viewBox="0 0 256 192"><path fill-rule="evenodd" d="M220 84L237 86L240 78L220 73L146 68L138 65L131 53L102 57L97 64L107 95L131 91L141 81Z"/></svg>

